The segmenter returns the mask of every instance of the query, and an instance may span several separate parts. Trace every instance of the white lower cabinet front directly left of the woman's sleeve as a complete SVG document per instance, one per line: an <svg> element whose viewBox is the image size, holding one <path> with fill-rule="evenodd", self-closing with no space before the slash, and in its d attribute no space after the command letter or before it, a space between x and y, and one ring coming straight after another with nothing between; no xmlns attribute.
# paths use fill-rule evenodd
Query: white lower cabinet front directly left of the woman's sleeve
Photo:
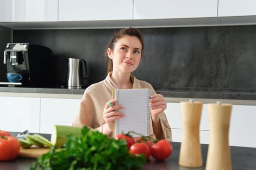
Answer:
<svg viewBox="0 0 256 170"><path fill-rule="evenodd" d="M41 98L40 133L51 134L53 125L71 125L80 99Z"/></svg>

